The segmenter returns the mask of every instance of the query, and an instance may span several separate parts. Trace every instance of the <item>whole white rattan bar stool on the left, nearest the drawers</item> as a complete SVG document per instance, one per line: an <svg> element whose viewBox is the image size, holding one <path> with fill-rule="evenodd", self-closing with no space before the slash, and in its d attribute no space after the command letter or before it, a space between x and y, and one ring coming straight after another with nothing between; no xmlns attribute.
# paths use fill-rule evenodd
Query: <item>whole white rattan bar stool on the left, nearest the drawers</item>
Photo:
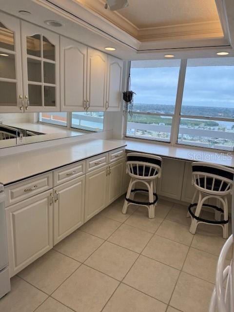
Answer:
<svg viewBox="0 0 234 312"><path fill-rule="evenodd" d="M151 154L129 153L127 155L127 173L131 176L127 195L125 197L122 213L127 213L127 208L131 204L147 206L149 218L155 217L155 207L157 204L156 178L161 176L162 158ZM135 184L139 182L146 185L147 189L136 189ZM137 192L146 192L149 201L142 202L134 200Z"/></svg>

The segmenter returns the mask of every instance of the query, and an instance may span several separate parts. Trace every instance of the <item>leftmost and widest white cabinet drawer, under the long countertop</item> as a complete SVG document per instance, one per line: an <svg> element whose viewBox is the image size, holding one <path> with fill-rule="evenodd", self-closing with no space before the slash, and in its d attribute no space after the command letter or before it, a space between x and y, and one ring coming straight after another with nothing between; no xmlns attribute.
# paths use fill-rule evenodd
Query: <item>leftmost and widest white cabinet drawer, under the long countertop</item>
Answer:
<svg viewBox="0 0 234 312"><path fill-rule="evenodd" d="M6 186L4 188L6 207L51 189L53 187L52 177L52 172L50 172Z"/></svg>

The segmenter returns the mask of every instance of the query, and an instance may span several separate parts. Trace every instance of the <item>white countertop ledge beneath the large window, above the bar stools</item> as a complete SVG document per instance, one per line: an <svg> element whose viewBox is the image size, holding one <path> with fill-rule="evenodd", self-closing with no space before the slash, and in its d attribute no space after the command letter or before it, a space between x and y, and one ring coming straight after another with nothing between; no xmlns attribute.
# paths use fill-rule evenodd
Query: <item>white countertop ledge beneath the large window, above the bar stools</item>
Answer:
<svg viewBox="0 0 234 312"><path fill-rule="evenodd" d="M233 152L213 152L191 146L170 146L157 142L142 142L137 140L123 140L127 144L126 150L153 154L162 157L175 158L187 161L205 161L234 168Z"/></svg>

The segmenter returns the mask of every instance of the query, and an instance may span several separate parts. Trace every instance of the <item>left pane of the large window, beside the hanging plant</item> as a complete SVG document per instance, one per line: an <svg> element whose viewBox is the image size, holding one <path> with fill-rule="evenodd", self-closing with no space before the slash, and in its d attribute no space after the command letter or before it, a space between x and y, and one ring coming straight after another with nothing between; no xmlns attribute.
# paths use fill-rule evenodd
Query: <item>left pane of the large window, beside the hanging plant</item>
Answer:
<svg viewBox="0 0 234 312"><path fill-rule="evenodd" d="M134 112L128 116L128 137L170 141L180 60L131 62Z"/></svg>

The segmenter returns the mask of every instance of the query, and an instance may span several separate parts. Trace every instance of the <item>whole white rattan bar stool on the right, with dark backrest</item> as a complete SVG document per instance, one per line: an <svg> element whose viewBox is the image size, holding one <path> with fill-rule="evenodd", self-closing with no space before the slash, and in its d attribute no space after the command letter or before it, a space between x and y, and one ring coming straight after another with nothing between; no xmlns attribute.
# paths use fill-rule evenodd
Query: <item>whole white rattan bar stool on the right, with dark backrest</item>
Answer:
<svg viewBox="0 0 234 312"><path fill-rule="evenodd" d="M220 165L206 162L192 163L192 184L195 186L195 194L192 203L188 207L188 215L192 218L190 233L195 234L199 223L219 225L223 229L223 238L228 238L228 199L227 195L232 194L234 183L234 170ZM198 193L198 201L195 197ZM209 198L215 198L217 206L205 204ZM222 204L222 208L218 207ZM196 207L196 208L195 208ZM202 207L208 207L215 211L215 220L207 220L200 217ZM195 208L195 213L193 212ZM223 220L221 220L223 215Z"/></svg>

